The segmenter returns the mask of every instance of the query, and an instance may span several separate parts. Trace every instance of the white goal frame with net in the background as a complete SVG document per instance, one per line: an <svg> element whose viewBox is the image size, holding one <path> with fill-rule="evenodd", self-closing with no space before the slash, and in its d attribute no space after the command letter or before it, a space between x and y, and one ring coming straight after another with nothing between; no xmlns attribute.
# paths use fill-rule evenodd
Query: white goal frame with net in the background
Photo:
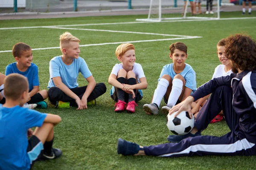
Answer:
<svg viewBox="0 0 256 170"><path fill-rule="evenodd" d="M183 16L181 15L182 12L179 11L178 14L173 14L171 17L163 16L163 0L150 0L149 10L148 10L148 18L145 19L136 19L137 21L152 21L152 22L160 22L162 20L181 20L181 19L212 19L218 20L220 19L220 0L217 0L217 4L215 4L215 14L198 14L196 16L187 16L189 0L187 0L186 7L184 10ZM165 4L166 7L166 4ZM175 13L175 9L177 7L168 8L170 13ZM179 8L183 11L183 6ZM177 10L176 10L177 13Z"/></svg>

